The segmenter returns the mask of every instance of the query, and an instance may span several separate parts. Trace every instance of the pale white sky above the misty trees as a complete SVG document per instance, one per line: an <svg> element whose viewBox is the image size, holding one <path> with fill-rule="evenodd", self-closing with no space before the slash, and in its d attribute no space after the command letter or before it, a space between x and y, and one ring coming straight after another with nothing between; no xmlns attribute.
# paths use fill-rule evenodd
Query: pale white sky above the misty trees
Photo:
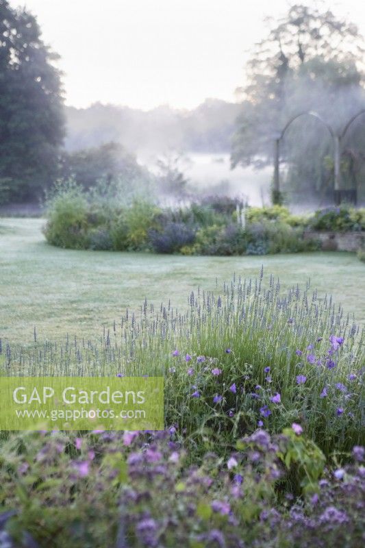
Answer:
<svg viewBox="0 0 365 548"><path fill-rule="evenodd" d="M10 0L16 6L18 0ZM312 0L307 0L312 4ZM23 5L23 4L22 4ZM234 100L245 53L265 35L264 16L287 0L25 0L62 59L66 104L194 108ZM365 3L338 0L365 34Z"/></svg>

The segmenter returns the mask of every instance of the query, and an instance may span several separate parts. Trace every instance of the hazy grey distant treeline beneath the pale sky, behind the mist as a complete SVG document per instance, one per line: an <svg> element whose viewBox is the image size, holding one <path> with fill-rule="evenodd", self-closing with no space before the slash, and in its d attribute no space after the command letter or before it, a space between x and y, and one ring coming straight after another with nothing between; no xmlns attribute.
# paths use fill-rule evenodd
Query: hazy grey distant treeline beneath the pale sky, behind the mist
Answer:
<svg viewBox="0 0 365 548"><path fill-rule="evenodd" d="M229 152L240 109L219 99L206 99L193 110L164 105L145 112L101 103L66 107L65 147L75 151L119 142L134 153Z"/></svg>

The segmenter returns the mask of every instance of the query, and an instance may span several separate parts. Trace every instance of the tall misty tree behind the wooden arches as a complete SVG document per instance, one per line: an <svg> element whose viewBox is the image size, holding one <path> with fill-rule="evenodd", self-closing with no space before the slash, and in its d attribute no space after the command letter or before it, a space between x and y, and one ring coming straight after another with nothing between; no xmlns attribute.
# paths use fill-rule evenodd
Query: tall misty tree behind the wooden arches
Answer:
<svg viewBox="0 0 365 548"><path fill-rule="evenodd" d="M268 36L255 46L249 60L247 86L240 89L243 102L233 166L271 162L275 134L299 112L315 110L340 132L365 105L364 40L355 25L305 5L292 5L284 18L268 23ZM365 143L364 121L358 140L360 123L357 143L351 138L353 127L344 156L349 147ZM317 199L329 197L331 166L325 160L332 146L327 129L318 121L303 117L293 123L283 149L291 189L301 188ZM348 175L344 173L344 179Z"/></svg>

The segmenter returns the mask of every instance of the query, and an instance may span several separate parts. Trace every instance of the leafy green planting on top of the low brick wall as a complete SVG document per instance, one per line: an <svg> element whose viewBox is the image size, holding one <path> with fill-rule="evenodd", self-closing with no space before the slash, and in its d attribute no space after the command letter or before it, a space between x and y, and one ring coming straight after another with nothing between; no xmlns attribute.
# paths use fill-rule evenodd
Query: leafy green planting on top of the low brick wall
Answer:
<svg viewBox="0 0 365 548"><path fill-rule="evenodd" d="M315 212L309 223L314 230L333 232L365 230L365 209L355 209L342 205Z"/></svg>

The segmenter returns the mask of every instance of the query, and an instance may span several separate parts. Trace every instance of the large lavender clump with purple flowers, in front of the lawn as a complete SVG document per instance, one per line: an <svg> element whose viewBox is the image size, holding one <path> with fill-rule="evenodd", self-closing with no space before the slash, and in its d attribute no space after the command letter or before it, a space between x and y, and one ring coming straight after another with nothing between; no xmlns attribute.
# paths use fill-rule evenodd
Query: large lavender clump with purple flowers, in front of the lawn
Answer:
<svg viewBox="0 0 365 548"><path fill-rule="evenodd" d="M192 293L184 313L144 302L99 343L34 338L30 351L1 345L5 375L164 375L166 426L186 429L199 453L292 422L326 455L364 443L364 332L331 297L283 296L263 272Z"/></svg>

